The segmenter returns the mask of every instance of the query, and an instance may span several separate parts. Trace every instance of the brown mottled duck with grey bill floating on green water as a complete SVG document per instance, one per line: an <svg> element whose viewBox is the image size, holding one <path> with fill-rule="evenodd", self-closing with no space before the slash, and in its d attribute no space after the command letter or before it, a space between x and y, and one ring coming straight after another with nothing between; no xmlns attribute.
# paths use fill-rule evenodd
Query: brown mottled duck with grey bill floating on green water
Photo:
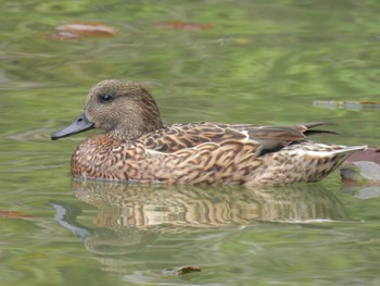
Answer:
<svg viewBox="0 0 380 286"><path fill-rule="evenodd" d="M124 183L288 185L318 182L367 146L328 145L309 135L325 122L273 126L197 122L164 125L139 83L105 79L88 92L83 113L52 140L98 128L71 159L81 179Z"/></svg>

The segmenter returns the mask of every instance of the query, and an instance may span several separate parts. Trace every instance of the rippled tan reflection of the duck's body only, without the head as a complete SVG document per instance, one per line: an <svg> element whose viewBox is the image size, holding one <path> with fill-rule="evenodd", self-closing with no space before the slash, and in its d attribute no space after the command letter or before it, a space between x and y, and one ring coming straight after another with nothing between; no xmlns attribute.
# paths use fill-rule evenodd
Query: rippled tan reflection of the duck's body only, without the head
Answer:
<svg viewBox="0 0 380 286"><path fill-rule="evenodd" d="M261 222L347 220L341 202L317 184L240 186L118 185L73 181L72 189L99 210L98 226L173 232L233 227Z"/></svg>

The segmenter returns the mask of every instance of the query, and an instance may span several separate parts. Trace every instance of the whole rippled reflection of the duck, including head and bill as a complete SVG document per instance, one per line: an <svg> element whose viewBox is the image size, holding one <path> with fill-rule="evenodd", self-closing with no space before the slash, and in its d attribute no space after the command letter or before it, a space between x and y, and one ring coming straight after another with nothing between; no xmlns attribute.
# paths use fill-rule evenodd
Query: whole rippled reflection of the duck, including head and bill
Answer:
<svg viewBox="0 0 380 286"><path fill-rule="evenodd" d="M91 210L80 215L80 222L92 219L93 225L83 226L73 217L80 214L83 203L74 208L54 202L55 220L84 240L104 270L119 273L136 263L130 259L136 258L132 253L144 253L147 246L160 245L165 237L175 239L176 234L183 238L256 222L350 220L341 202L318 184L249 189L73 181L72 191L79 200L97 208L97 213ZM178 251L178 247L173 251ZM172 247L165 243L161 249L167 254Z"/></svg>

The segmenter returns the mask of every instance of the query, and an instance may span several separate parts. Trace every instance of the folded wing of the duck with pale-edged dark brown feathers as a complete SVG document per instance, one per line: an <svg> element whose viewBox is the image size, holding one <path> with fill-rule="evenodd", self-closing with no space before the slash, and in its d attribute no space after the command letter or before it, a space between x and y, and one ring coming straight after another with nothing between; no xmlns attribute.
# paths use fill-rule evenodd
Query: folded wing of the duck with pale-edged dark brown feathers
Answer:
<svg viewBox="0 0 380 286"><path fill-rule="evenodd" d="M276 151L314 133L331 133L312 129L325 123L305 123L292 126L262 126L253 124L187 123L173 124L138 139L148 149L175 152L204 142L250 141L265 152Z"/></svg>

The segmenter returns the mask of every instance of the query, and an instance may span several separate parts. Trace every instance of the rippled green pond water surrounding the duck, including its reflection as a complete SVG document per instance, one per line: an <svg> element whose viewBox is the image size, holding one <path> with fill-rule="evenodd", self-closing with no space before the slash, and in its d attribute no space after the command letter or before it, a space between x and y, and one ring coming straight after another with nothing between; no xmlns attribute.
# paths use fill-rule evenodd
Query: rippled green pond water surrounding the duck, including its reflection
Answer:
<svg viewBox="0 0 380 286"><path fill-rule="evenodd" d="M379 285L379 197L324 184L275 189L72 182L87 136L51 141L100 79L142 82L165 123L328 121L379 145L378 1L0 2L0 285ZM54 41L101 22L107 38ZM157 23L208 24L201 30ZM363 198L363 196L362 196ZM7 216L5 211L18 216ZM202 272L166 271L197 265Z"/></svg>

